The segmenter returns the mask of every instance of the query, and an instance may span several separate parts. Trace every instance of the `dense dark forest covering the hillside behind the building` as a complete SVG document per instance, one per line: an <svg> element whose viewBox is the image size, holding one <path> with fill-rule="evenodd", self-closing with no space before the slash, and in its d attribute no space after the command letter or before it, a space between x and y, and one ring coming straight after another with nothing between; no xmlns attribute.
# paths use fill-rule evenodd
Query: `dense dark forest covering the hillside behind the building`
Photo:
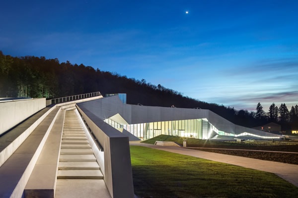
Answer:
<svg viewBox="0 0 298 198"><path fill-rule="evenodd" d="M145 79L137 80L119 74L94 69L83 64L69 61L60 63L57 58L25 56L12 57L0 51L0 98L31 97L59 98L84 93L97 92L105 96L111 93L126 93L130 104L141 103L149 106L175 105L181 108L202 108L223 116L225 119L246 127L255 127L269 121L283 124L288 129L289 122L297 122L298 107L290 113L284 105L273 103L269 113L265 113L261 104L257 112L235 110L215 103L207 103L183 96L181 93L167 89L162 85L147 83ZM285 129L286 129L285 128Z"/></svg>

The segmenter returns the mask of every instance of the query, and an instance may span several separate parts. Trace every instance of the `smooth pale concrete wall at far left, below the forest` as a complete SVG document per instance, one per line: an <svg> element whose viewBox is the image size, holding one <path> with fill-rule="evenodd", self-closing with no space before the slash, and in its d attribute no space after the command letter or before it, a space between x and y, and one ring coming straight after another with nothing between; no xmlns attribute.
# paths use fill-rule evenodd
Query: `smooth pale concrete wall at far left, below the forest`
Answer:
<svg viewBox="0 0 298 198"><path fill-rule="evenodd" d="M45 107L45 98L1 102L0 135Z"/></svg>

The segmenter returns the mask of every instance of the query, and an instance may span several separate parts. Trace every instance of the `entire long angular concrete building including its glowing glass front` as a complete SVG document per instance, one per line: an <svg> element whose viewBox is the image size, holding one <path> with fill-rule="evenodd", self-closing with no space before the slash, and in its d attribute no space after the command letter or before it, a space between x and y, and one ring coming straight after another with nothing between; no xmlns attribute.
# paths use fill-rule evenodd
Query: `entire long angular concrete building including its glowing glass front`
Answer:
<svg viewBox="0 0 298 198"><path fill-rule="evenodd" d="M143 106L123 103L115 95L77 103L130 140L164 134L197 139L279 139L280 135L235 125L207 109ZM133 136L132 136L133 135Z"/></svg>

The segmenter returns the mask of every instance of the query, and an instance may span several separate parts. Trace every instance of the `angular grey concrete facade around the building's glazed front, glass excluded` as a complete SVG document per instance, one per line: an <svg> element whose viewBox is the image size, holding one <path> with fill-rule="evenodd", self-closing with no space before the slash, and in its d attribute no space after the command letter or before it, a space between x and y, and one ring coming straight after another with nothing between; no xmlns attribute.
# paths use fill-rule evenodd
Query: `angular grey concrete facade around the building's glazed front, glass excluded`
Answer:
<svg viewBox="0 0 298 198"><path fill-rule="evenodd" d="M81 103L80 105L90 110L100 119L112 119L115 123L118 123L119 125L126 125L127 123L133 125L140 123L149 124L153 122L156 123L199 119L199 121L201 121L201 124L199 126L201 130L201 139L282 138L282 136L280 135L235 125L232 122L224 119L223 117L207 109L170 108L124 104L117 96L92 100L89 102ZM165 132L165 135L171 134L166 134ZM139 137L136 134L135 136L137 136L138 138L143 138ZM180 134L178 134L178 136L180 136Z"/></svg>

